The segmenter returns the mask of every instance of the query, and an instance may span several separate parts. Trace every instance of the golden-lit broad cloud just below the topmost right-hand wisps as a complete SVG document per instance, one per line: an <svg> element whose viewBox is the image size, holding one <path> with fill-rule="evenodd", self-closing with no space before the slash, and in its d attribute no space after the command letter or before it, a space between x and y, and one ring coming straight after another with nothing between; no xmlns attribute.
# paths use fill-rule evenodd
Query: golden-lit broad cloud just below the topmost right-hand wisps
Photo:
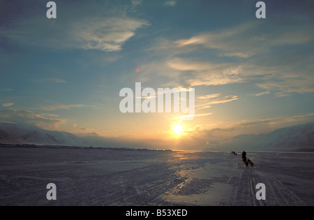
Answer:
<svg viewBox="0 0 314 220"><path fill-rule="evenodd" d="M305 45L304 45L305 47ZM289 47L288 47L289 48ZM193 58L173 57L167 66L180 72L181 80L190 87L251 83L265 91L262 94L287 96L292 93L314 92L313 52L300 54L301 46L271 51L264 56L254 57L233 63L213 63ZM270 49L269 49L270 50ZM296 54L291 54L294 50ZM285 54L290 53L290 56ZM300 57L301 56L301 57Z"/></svg>

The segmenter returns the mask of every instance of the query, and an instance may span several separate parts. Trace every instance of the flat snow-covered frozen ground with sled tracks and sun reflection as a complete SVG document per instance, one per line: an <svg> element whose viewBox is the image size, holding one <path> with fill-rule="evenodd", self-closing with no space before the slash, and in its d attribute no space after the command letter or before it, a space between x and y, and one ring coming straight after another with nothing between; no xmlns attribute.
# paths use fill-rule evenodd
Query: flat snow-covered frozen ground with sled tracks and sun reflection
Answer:
<svg viewBox="0 0 314 220"><path fill-rule="evenodd" d="M0 147L0 205L314 205L313 153L238 153Z"/></svg>

